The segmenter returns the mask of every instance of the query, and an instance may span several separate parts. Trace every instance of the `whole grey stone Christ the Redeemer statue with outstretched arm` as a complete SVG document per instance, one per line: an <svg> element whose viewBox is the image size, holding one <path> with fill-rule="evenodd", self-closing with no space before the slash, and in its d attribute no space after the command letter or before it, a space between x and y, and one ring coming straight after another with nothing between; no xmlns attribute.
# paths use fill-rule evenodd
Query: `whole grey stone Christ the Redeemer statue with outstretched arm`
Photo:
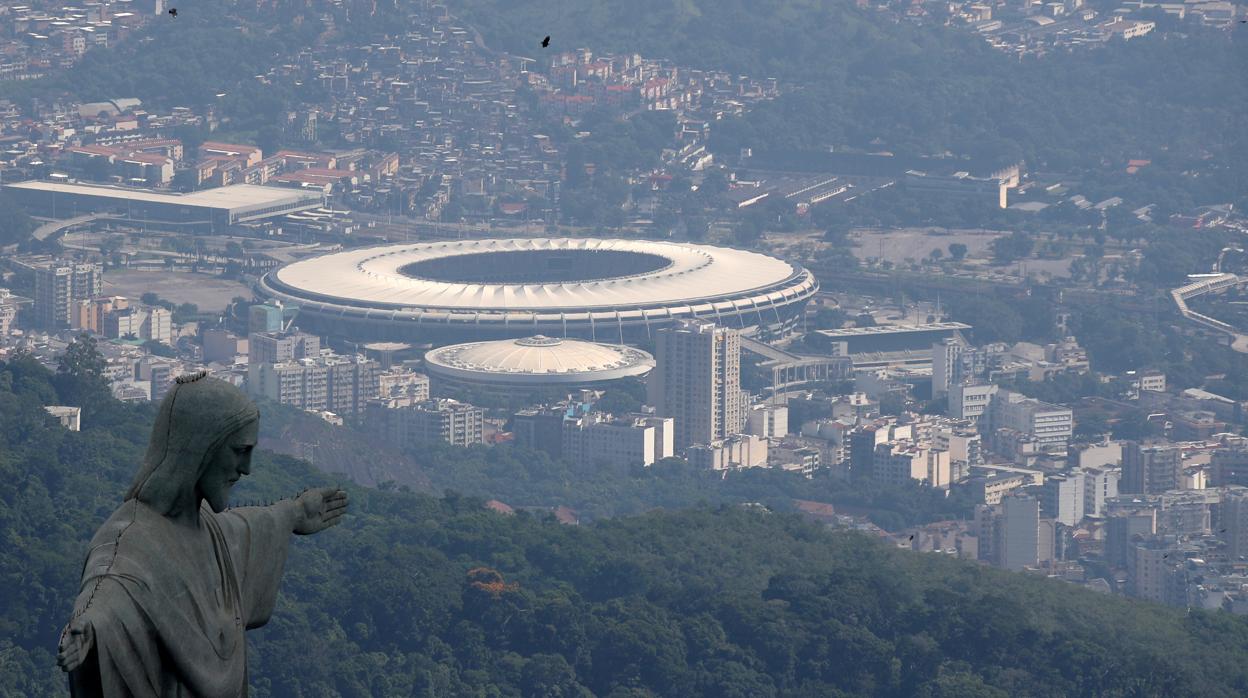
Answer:
<svg viewBox="0 0 1248 698"><path fill-rule="evenodd" d="M260 412L202 373L161 402L142 467L91 539L57 662L70 693L150 698L247 694L243 632L268 622L291 533L317 533L347 493L310 489L227 508L251 472Z"/></svg>

